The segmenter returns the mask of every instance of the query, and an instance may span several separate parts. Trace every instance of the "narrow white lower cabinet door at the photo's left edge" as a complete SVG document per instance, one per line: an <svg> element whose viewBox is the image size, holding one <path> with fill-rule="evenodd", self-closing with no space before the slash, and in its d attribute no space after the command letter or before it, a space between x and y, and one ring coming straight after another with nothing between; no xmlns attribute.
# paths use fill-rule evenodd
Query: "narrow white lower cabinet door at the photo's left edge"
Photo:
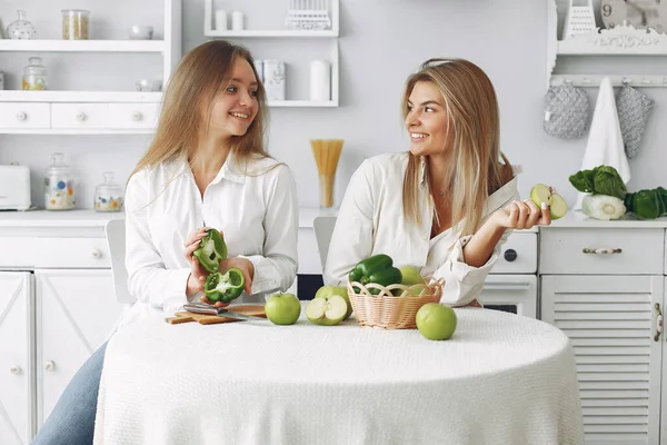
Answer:
<svg viewBox="0 0 667 445"><path fill-rule="evenodd" d="M32 274L0 271L0 443L32 437Z"/></svg>

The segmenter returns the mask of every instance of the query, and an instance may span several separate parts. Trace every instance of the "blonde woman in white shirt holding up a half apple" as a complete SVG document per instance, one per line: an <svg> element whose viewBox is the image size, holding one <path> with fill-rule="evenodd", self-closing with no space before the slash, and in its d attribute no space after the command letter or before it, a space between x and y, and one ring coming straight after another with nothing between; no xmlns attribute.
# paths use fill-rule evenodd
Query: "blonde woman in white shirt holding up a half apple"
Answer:
<svg viewBox="0 0 667 445"><path fill-rule="evenodd" d="M426 61L408 78L402 113L410 150L367 159L354 174L325 284L345 284L358 261L387 254L445 278L442 303L477 305L511 229L550 224L548 207L519 200L499 148L496 93L476 65Z"/></svg>

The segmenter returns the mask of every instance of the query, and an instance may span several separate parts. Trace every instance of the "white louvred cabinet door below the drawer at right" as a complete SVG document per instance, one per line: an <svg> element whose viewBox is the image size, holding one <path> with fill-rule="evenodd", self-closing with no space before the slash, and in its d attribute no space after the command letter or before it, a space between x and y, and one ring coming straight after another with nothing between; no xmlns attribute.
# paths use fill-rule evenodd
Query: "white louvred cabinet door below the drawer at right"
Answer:
<svg viewBox="0 0 667 445"><path fill-rule="evenodd" d="M542 320L573 342L587 444L659 444L661 276L542 276Z"/></svg>

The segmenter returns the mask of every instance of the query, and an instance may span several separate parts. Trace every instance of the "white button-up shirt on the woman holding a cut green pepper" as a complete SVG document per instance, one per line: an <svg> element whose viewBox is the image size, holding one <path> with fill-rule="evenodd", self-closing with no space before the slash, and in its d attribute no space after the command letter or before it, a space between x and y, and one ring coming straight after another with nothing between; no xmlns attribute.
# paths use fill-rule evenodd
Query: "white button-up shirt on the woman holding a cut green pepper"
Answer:
<svg viewBox="0 0 667 445"><path fill-rule="evenodd" d="M292 285L297 191L289 168L277 164L252 160L245 175L230 154L203 198L183 160L132 176L126 191L126 268L138 301L123 324L156 309L172 313L188 301L185 241L205 225L222 233L229 257L247 257L255 266L252 296L243 293L238 301L263 301Z"/></svg>

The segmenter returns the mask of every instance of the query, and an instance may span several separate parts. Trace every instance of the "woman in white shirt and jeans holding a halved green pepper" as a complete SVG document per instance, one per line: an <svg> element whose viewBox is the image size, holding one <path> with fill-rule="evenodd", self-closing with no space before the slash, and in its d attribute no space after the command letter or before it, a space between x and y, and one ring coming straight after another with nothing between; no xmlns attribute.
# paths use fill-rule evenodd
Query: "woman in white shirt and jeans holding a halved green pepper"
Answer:
<svg viewBox="0 0 667 445"><path fill-rule="evenodd" d="M138 301L121 325L199 298L192 257L206 227L225 237L246 278L246 300L287 290L297 274L297 196L289 169L263 150L265 90L250 53L203 43L180 61L157 134L126 191L128 286ZM242 298L243 298L242 297ZM93 438L106 344L70 382L33 444Z"/></svg>

